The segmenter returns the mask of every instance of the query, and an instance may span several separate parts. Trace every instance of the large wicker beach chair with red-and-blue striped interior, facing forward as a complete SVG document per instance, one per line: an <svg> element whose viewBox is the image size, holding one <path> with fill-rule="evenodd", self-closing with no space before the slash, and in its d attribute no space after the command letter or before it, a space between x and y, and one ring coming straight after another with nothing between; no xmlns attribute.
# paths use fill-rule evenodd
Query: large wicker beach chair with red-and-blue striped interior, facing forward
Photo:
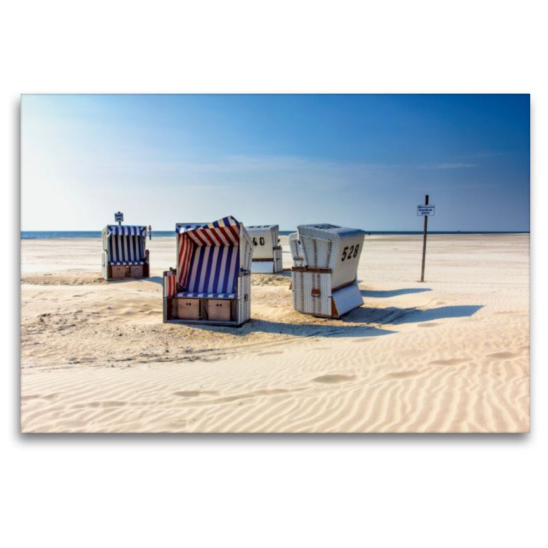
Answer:
<svg viewBox="0 0 548 548"><path fill-rule="evenodd" d="M253 244L242 223L178 223L177 268L164 272L164 322L241 325L251 318Z"/></svg>

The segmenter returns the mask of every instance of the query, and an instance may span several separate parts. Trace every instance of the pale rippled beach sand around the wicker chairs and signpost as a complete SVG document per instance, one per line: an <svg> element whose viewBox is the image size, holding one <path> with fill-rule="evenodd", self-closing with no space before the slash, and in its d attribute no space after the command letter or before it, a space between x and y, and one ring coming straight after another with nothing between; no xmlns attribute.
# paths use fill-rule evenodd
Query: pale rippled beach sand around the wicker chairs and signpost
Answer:
<svg viewBox="0 0 548 548"><path fill-rule="evenodd" d="M362 308L256 274L240 328L162 323L175 238L147 246L106 282L99 238L21 241L22 432L529 432L528 234L431 235L424 283L422 236L366 236Z"/></svg>

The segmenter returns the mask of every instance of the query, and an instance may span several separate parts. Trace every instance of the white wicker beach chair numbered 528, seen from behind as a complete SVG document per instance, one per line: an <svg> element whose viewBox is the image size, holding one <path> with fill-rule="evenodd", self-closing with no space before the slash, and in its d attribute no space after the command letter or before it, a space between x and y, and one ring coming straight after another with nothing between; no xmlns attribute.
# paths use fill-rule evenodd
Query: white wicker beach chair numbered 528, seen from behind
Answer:
<svg viewBox="0 0 548 548"><path fill-rule="evenodd" d="M299 225L303 266L291 269L293 309L340 318L363 299L356 282L364 232L337 225Z"/></svg>

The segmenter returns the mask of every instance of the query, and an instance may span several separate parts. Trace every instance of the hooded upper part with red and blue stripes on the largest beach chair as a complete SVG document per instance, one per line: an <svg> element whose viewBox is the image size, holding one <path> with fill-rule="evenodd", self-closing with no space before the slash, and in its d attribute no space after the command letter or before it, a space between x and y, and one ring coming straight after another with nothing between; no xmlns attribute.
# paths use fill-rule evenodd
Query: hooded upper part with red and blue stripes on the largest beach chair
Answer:
<svg viewBox="0 0 548 548"><path fill-rule="evenodd" d="M177 223L177 297L236 298L240 269L251 261L251 242L245 227L228 216L206 225ZM240 255L240 242L247 240ZM249 267L248 267L249 268Z"/></svg>

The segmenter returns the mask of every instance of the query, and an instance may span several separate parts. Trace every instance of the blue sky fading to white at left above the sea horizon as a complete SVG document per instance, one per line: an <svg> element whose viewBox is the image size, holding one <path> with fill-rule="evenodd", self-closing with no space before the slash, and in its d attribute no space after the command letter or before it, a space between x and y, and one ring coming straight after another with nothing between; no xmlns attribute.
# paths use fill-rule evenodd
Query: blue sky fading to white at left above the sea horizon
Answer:
<svg viewBox="0 0 548 548"><path fill-rule="evenodd" d="M22 95L21 230L530 230L530 95Z"/></svg>

